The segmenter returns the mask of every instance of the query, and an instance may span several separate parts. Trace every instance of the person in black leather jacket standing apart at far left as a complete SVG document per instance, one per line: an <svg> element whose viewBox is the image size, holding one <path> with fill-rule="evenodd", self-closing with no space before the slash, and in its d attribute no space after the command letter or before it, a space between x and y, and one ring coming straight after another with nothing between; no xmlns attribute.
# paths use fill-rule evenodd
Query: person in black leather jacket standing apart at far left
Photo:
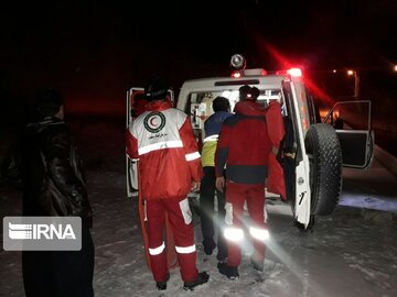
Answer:
<svg viewBox="0 0 397 297"><path fill-rule="evenodd" d="M20 142L23 216L81 217L81 251L23 251L24 289L30 296L94 296L93 211L69 128L63 121L63 96L39 94L39 118Z"/></svg>

